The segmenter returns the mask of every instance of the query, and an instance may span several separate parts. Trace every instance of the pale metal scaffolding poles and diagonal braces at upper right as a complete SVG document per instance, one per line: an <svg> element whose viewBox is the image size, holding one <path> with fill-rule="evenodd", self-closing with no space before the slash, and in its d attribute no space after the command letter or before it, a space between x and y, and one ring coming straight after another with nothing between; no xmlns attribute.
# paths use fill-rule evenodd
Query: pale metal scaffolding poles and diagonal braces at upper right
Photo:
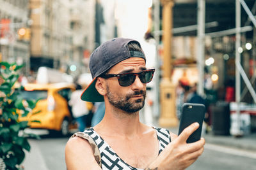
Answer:
<svg viewBox="0 0 256 170"><path fill-rule="evenodd" d="M202 77L202 73L204 73L204 64L202 64L202 60L204 60L204 37L205 37L205 0L198 0L198 70L199 70L199 82L198 82L198 92L202 94L204 91L204 78ZM241 27L241 6L246 11L248 18L250 18L253 25L256 27L256 20L252 14L252 11L248 8L244 0L236 0L236 28L230 29L227 31L221 32L211 32L208 36L225 36L228 34L236 33L236 104L237 104L237 129L235 135L241 136L243 132L240 130L240 106L241 106L241 77L246 84L250 94L252 95L254 103L256 103L256 94L255 90L252 87L252 83L255 80L255 73L253 73L252 80L250 81L249 78L246 76L243 67L241 66L241 53L239 53L238 48L241 46L241 32L251 31L252 27L245 26ZM253 5L253 11L256 10L256 3ZM246 22L246 25L248 21ZM221 33L221 34L220 34ZM203 71L202 71L203 70ZM254 71L254 70L253 70ZM255 71L254 71L255 72Z"/></svg>

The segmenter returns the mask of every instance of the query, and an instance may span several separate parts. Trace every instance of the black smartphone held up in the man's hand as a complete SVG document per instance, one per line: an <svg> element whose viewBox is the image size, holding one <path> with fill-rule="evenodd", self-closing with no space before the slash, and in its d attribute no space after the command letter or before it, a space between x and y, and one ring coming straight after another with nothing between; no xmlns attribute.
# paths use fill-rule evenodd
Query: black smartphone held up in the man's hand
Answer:
<svg viewBox="0 0 256 170"><path fill-rule="evenodd" d="M187 139L187 143L193 143L201 138L202 124L205 114L204 104L184 103L182 106L182 113L179 125L179 134L189 125L198 122L200 125L193 134Z"/></svg>

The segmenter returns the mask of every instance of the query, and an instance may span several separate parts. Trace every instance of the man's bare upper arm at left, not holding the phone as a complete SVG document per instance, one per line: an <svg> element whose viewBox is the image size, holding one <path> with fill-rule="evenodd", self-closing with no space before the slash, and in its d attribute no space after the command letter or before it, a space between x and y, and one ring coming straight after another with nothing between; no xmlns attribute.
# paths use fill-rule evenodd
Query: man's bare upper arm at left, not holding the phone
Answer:
<svg viewBox="0 0 256 170"><path fill-rule="evenodd" d="M68 170L101 169L94 159L92 147L88 141L74 137L65 147L65 160Z"/></svg>

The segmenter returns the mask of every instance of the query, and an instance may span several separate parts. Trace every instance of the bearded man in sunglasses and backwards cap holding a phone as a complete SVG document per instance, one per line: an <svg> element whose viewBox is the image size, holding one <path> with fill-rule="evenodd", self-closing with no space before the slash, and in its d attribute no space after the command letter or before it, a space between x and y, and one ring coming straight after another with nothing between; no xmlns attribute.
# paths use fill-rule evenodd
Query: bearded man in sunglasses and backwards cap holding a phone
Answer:
<svg viewBox="0 0 256 170"><path fill-rule="evenodd" d="M144 106L146 83L154 74L145 63L140 43L133 39L112 39L92 53L93 81L81 99L105 101L105 115L95 127L67 142L67 169L186 169L202 154L203 138L186 143L198 124L190 125L179 137L141 124L139 110ZM93 142L101 160L95 156Z"/></svg>

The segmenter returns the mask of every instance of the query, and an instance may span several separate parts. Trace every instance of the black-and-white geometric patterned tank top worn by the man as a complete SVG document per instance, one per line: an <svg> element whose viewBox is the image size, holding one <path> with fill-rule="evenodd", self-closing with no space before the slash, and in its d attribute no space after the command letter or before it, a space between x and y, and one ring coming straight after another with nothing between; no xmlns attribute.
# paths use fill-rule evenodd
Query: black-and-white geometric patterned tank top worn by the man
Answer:
<svg viewBox="0 0 256 170"><path fill-rule="evenodd" d="M159 143L159 152L160 154L168 143L171 142L170 132L167 129L156 128L157 139ZM93 128L86 129L85 134L88 134L93 141L97 144L100 151L102 169L132 169L139 170L139 168L132 167L129 164L125 163L124 160L120 159L115 151L102 139Z"/></svg>

